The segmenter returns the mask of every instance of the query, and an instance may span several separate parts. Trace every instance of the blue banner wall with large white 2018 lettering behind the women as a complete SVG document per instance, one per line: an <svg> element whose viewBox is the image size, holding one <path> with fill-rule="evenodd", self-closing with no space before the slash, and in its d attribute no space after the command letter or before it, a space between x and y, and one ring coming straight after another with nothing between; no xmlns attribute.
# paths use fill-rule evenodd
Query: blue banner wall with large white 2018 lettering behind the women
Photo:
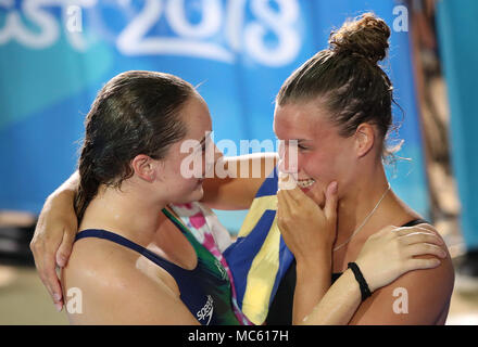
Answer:
<svg viewBox="0 0 478 347"><path fill-rule="evenodd" d="M80 4L80 11L68 3ZM372 10L392 27L392 0L77 0L0 4L0 208L38 211L74 170L84 116L101 86L128 69L167 72L210 105L214 138L271 139L281 82L327 47L330 29ZM395 13L394 13L395 11ZM80 20L78 13L81 14ZM79 26L81 24L81 26ZM79 31L76 31L80 29ZM404 110L392 188L428 213L408 33L383 63ZM395 110L395 117L402 120ZM231 218L231 217L228 217ZM234 228L232 219L225 220Z"/></svg>

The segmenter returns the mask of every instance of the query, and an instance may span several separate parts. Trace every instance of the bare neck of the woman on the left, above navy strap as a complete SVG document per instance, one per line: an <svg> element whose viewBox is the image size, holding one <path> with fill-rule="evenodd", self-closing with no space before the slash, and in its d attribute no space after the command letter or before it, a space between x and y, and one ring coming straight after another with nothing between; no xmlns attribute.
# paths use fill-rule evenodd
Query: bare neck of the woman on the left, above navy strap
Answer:
<svg viewBox="0 0 478 347"><path fill-rule="evenodd" d="M105 229L146 247L154 237L165 206L165 202L152 202L148 194L127 184L121 190L102 187L89 203L80 230Z"/></svg>

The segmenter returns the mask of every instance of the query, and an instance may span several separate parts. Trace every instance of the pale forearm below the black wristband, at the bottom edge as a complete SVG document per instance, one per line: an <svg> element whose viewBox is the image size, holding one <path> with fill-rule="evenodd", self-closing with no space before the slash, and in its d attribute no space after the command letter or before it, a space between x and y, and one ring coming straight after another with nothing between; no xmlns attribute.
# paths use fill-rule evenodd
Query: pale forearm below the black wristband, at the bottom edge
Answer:
<svg viewBox="0 0 478 347"><path fill-rule="evenodd" d="M347 325L362 300L358 283L348 269L324 295L301 324Z"/></svg>

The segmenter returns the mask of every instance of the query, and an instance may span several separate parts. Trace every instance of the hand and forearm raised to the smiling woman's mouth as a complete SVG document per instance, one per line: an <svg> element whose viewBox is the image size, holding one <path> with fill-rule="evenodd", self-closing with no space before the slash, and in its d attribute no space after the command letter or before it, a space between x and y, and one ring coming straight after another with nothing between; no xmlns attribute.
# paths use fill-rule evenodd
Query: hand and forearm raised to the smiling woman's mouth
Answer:
<svg viewBox="0 0 478 347"><path fill-rule="evenodd" d="M297 261L292 322L299 324L330 286L338 197L337 183L332 182L327 187L322 209L291 183L290 176L280 175L277 218L284 241Z"/></svg>

